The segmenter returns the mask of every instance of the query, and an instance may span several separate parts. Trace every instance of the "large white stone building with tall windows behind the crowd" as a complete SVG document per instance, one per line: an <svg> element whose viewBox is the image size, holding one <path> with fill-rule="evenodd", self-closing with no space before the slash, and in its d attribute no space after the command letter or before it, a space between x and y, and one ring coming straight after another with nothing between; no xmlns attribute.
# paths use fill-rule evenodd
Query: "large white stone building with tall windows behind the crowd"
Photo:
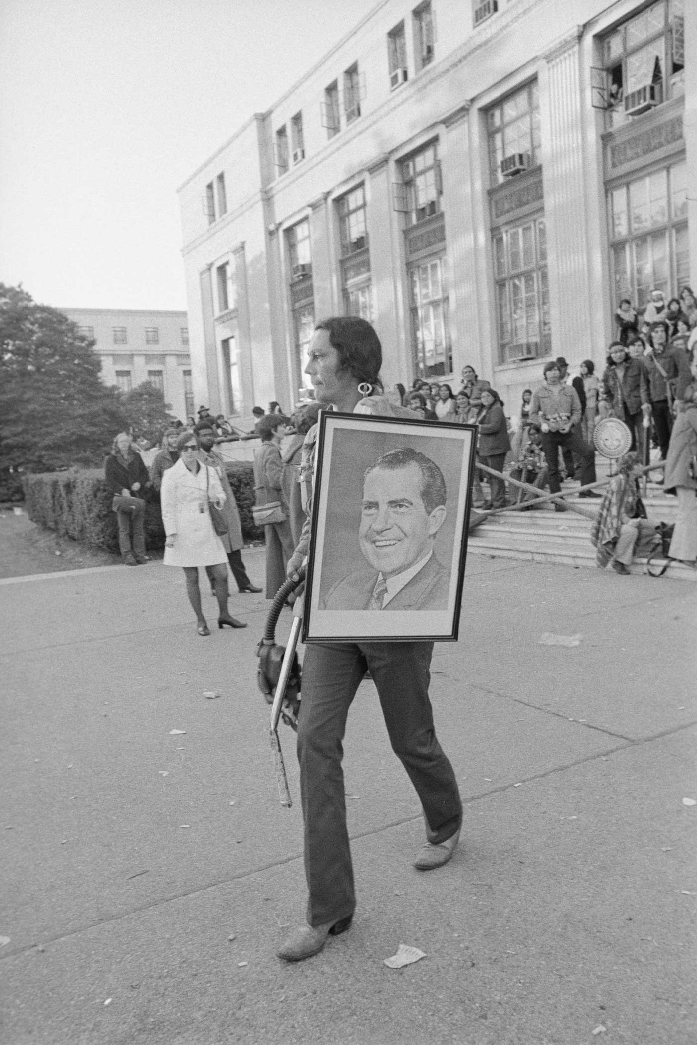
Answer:
<svg viewBox="0 0 697 1045"><path fill-rule="evenodd" d="M387 384L471 364L510 409L604 364L623 297L697 281L697 3L384 0L180 188L196 400L303 393L316 320Z"/></svg>

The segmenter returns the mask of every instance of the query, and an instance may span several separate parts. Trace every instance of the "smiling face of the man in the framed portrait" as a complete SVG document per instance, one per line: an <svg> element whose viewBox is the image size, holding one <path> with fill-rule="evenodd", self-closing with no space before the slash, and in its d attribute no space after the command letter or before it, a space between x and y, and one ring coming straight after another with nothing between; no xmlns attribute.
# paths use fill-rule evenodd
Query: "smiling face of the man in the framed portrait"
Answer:
<svg viewBox="0 0 697 1045"><path fill-rule="evenodd" d="M417 464L396 470L375 468L366 477L358 538L374 570L392 577L409 570L433 548L445 521L445 506L428 513L421 497Z"/></svg>

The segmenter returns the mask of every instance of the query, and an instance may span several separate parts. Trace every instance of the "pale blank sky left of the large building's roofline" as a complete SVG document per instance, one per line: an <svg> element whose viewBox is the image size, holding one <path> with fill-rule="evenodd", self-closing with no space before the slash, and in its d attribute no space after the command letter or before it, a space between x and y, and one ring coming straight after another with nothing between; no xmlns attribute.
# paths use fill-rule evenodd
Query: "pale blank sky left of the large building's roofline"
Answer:
<svg viewBox="0 0 697 1045"><path fill-rule="evenodd" d="M185 308L176 190L378 0L2 0L0 281Z"/></svg>

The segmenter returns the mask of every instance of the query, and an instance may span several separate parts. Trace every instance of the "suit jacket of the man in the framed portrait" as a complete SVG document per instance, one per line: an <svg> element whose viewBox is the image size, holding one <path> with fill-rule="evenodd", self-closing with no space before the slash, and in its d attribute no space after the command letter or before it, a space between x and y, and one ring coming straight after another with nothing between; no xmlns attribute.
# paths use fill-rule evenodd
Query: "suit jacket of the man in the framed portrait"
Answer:
<svg viewBox="0 0 697 1045"><path fill-rule="evenodd" d="M377 572L370 566L356 570L336 581L321 604L321 609L367 609L375 590ZM412 577L385 609L447 609L450 577L432 555L426 564Z"/></svg>

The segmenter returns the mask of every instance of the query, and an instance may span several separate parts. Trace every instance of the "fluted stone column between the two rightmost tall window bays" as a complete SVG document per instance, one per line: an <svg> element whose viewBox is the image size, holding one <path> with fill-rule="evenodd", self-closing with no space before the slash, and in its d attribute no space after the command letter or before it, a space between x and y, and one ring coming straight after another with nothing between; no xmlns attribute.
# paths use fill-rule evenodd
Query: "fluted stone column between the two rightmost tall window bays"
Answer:
<svg viewBox="0 0 697 1045"><path fill-rule="evenodd" d="M539 85L552 354L573 365L593 345L580 36L577 28L547 52Z"/></svg>

